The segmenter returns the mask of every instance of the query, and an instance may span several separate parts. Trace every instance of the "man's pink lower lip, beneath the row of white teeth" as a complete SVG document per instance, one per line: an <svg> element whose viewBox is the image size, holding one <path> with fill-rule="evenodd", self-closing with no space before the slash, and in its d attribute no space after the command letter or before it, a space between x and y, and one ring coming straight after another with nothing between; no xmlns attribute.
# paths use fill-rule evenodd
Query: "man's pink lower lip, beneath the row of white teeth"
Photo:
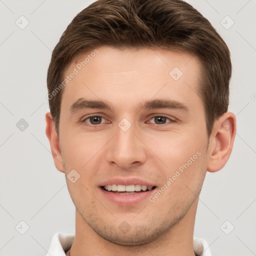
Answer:
<svg viewBox="0 0 256 256"><path fill-rule="evenodd" d="M141 202L145 198L148 198L150 196L150 194L155 190L155 188L154 188L149 191L138 192L135 194L117 194L117 193L106 191L102 188L99 188L99 189L103 193L103 196L105 196L108 200L112 201L115 204L119 204L122 206L132 205L132 204Z"/></svg>

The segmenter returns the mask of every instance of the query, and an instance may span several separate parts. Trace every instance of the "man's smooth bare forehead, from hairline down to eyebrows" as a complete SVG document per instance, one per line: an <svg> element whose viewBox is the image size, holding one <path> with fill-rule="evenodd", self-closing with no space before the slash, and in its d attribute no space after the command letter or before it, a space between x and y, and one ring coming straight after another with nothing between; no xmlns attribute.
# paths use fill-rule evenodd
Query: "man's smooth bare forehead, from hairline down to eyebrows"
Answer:
<svg viewBox="0 0 256 256"><path fill-rule="evenodd" d="M72 73L62 95L69 106L83 97L122 102L122 107L156 94L200 100L200 62L191 53L102 46L75 56L64 78Z"/></svg>

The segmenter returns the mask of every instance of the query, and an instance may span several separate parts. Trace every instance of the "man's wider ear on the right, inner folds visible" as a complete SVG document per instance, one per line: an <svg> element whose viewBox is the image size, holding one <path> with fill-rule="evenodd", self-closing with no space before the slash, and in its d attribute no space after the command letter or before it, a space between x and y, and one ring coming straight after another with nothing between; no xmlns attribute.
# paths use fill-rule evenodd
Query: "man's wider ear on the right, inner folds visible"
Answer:
<svg viewBox="0 0 256 256"><path fill-rule="evenodd" d="M236 134L236 119L231 112L226 112L215 121L208 147L207 171L220 170L227 162Z"/></svg>

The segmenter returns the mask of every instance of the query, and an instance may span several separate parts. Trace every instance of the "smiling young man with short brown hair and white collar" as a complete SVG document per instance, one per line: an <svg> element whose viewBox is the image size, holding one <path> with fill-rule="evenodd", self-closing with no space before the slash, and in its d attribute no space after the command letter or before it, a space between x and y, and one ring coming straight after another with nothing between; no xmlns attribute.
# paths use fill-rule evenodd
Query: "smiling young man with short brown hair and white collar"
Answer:
<svg viewBox="0 0 256 256"><path fill-rule="evenodd" d="M206 171L232 150L229 50L181 0L99 0L47 74L46 135L76 207L47 255L210 255L193 237Z"/></svg>

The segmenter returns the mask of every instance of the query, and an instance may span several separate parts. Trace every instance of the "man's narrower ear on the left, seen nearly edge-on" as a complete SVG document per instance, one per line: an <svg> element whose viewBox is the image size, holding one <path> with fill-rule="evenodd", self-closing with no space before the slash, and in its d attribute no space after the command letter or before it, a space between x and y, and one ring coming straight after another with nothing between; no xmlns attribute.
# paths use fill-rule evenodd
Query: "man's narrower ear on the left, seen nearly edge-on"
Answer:
<svg viewBox="0 0 256 256"><path fill-rule="evenodd" d="M59 148L59 138L55 131L53 118L50 112L47 112L45 114L45 120L46 120L45 133L50 142L50 150L54 160L54 164L59 171L64 172L62 155Z"/></svg>

